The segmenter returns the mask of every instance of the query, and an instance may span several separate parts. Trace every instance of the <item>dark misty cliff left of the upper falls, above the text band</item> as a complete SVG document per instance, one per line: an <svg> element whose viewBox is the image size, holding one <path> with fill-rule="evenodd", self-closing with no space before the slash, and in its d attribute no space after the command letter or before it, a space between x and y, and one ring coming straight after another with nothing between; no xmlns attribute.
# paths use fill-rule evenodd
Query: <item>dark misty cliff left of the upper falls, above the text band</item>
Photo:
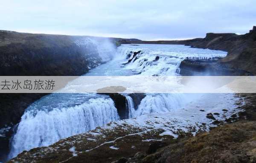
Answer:
<svg viewBox="0 0 256 163"><path fill-rule="evenodd" d="M87 37L0 31L0 75L74 76L101 63ZM93 63L95 61L96 63Z"/></svg>

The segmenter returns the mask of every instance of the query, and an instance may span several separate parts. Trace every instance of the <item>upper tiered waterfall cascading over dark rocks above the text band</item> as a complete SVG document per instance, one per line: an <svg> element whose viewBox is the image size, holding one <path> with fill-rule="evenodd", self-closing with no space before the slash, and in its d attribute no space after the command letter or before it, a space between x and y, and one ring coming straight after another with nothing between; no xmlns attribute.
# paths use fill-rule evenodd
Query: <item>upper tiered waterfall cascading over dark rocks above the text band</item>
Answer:
<svg viewBox="0 0 256 163"><path fill-rule="evenodd" d="M126 70L146 76L177 76L180 62L186 57L224 57L224 51L189 48L184 45L122 45L117 53Z"/></svg>

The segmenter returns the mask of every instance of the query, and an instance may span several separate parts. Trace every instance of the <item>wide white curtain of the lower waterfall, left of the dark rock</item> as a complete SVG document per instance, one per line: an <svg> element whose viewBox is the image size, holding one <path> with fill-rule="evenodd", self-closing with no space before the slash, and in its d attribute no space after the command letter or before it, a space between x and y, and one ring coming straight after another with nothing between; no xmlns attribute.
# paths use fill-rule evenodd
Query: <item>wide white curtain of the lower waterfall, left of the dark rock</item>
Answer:
<svg viewBox="0 0 256 163"><path fill-rule="evenodd" d="M36 108L35 108L36 109ZM110 98L91 98L88 102L68 108L54 108L47 112L28 110L21 117L12 138L9 158L23 150L49 146L67 138L119 120Z"/></svg>

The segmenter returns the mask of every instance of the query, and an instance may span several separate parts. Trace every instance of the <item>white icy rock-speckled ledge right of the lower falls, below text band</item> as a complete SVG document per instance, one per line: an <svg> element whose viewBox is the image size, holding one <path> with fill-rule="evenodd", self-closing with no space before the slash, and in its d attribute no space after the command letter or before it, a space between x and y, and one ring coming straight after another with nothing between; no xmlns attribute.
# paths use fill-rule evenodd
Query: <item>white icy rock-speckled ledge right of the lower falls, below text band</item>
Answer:
<svg viewBox="0 0 256 163"><path fill-rule="evenodd" d="M218 121L224 121L231 115L242 111L238 109L239 98L230 93L204 94L198 100L192 101L183 108L177 108L169 112L153 112L147 115L140 115L135 118L125 119L111 123L110 126L102 126L104 129L111 129L116 125L131 125L145 129L163 129L160 135L178 136L178 131L192 132L195 135L199 129L208 131L212 124L212 119L207 118L208 113L212 113ZM223 109L228 110L227 112ZM204 110L204 111L200 111ZM214 115L219 113L219 115ZM203 124L203 125L202 125ZM125 128L125 126L124 126Z"/></svg>

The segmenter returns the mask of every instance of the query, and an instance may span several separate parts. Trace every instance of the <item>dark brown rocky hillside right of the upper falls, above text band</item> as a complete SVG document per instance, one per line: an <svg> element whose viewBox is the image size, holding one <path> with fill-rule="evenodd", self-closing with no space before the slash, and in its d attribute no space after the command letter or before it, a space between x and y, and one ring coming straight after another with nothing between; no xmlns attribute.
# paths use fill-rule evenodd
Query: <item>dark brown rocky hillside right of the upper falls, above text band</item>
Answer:
<svg viewBox="0 0 256 163"><path fill-rule="evenodd" d="M227 56L215 62L215 67L256 75L256 27L244 35L208 33L204 39L192 39L186 45L227 51ZM207 67L211 67L209 65ZM232 74L232 73L231 73ZM237 74L235 74L237 75ZM241 74L243 75L243 74Z"/></svg>

